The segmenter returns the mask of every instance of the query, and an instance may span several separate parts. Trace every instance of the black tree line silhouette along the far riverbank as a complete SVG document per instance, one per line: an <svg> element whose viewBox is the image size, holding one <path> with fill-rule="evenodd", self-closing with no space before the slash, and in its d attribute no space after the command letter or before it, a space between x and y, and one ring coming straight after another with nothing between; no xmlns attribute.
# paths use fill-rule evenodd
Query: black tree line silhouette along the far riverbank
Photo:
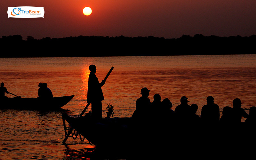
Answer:
<svg viewBox="0 0 256 160"><path fill-rule="evenodd" d="M35 39L20 35L2 36L0 57L92 57L92 56L159 56L254 54L256 35L252 36L194 36L180 38L127 36L70 36Z"/></svg>

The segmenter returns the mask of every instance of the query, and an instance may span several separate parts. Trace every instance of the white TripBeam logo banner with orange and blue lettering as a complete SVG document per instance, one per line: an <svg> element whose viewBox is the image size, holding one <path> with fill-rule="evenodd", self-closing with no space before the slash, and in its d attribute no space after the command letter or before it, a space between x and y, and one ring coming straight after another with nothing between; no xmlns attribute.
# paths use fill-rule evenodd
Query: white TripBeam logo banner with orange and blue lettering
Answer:
<svg viewBox="0 0 256 160"><path fill-rule="evenodd" d="M44 18L44 7L8 7L8 18Z"/></svg>

